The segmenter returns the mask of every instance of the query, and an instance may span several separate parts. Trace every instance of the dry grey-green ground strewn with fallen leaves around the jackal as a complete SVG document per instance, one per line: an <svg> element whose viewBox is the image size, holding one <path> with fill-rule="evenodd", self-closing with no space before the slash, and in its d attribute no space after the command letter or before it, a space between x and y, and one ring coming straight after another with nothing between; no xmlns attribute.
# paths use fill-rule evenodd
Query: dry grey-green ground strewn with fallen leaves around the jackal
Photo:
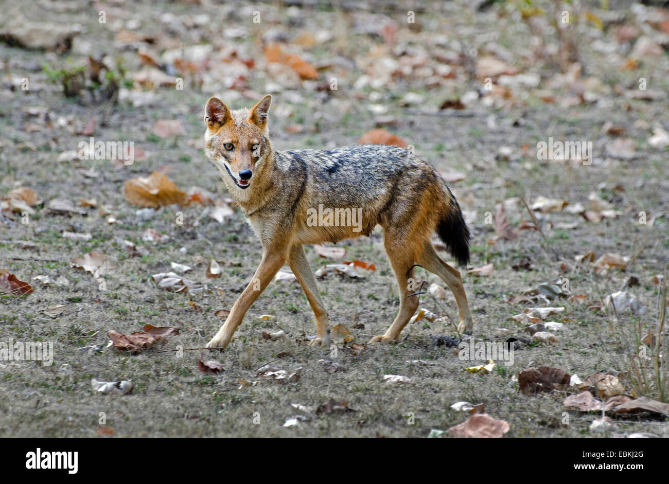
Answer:
<svg viewBox="0 0 669 484"><path fill-rule="evenodd" d="M609 10L584 1L578 11L549 2L531 11L520 1L477 11L470 3L333 8L317 2L62 0L19 8L5 2L0 268L33 291L1 299L0 341L52 342L54 364L0 361L0 435L94 437L112 429L116 437L427 437L431 429L464 422L469 415L450 406L467 401L483 402L487 414L508 422L506 437L587 437L597 413L565 408L566 388L523 394L514 375L544 365L582 380L611 373L624 394L638 396L626 379L628 354L638 348L635 335L656 331L660 286L652 277L669 261L669 140L662 142L669 137L669 13L614 1ZM551 22L559 23L563 10L572 17L559 36ZM21 18L47 32L55 31L50 23L65 26L65 38L78 32L62 49L27 48L6 35ZM29 36L49 37L39 31ZM290 61L268 62L270 45L298 55L306 72ZM110 92L104 83L98 88L85 80L74 96L65 96L62 72L84 66L88 76L89 56L110 67ZM316 79L308 67L316 69ZM183 89L175 86L177 78ZM462 269L474 338L525 338L512 366L496 362L490 373L468 372L487 361L461 360L454 348L435 344L436 335L458 338L450 292L441 301L422 295L420 307L442 319L408 325L397 344L369 345L353 354L352 343L342 342L337 357L330 356L330 350L306 346L315 334L314 318L291 281L266 289L224 352L159 352L206 344L221 324L214 313L229 309L250 281L260 243L234 207L222 223L210 217L213 207L200 203L142 209L126 201L123 183L159 171L183 191L200 187L223 203L229 195L202 150L203 106L212 95L231 108L252 106L267 92L274 96L270 130L276 149L355 144L365 132L385 128L454 180L448 185L472 231L469 268L493 267L487 275ZM447 100L452 103L440 109ZM161 137L158 120L176 120L183 132ZM62 155L90 136L132 141L136 159L126 166ZM537 143L549 137L592 142L590 162L539 159ZM25 208L10 203L17 187L29 187L39 198L27 218ZM540 197L566 205L542 210ZM538 204L533 214L543 235L521 229L508 237L516 240L499 237L500 217L496 224L493 215L500 204L512 231L533 223L521 198ZM74 207L50 209L54 199ZM90 199L90 206L77 206ZM147 229L169 238L142 240ZM64 232L91 238L76 241ZM145 247L146 254L134 257L123 241ZM330 323L343 324L355 343L365 344L395 318L395 278L381 233L338 246L347 249L344 260L376 266L364 278L330 274L318 281ZM314 270L339 262L306 249ZM75 258L91 251L104 253L116 267L102 277L102 286L73 267ZM594 261L619 255L624 268L597 266L587 257L578 263L588 252ZM211 259L221 266L217 278L205 276ZM191 266L184 277L206 288L157 287L151 276L173 270L173 262ZM418 273L444 285L422 269ZM34 279L41 275L49 283ZM568 279L568 295L508 302L559 279ZM615 291L635 295L645 312L607 311L603 298ZM64 309L50 316L47 308L57 305ZM553 331L555 341L533 340L525 331L528 322L510 319L545 306L564 308L545 320L564 324ZM263 314L276 319L259 320ZM107 346L108 331L128 334L146 324L176 326L180 334L138 353ZM262 336L278 330L287 337ZM102 349L85 348L95 345ZM200 358L221 362L224 371L201 372ZM343 370L328 371L322 359ZM280 384L257 376L270 362L288 371L302 368L300 378ZM383 382L387 374L410 382ZM123 396L98 394L91 378L132 380L134 388ZM649 396L658 394L656 388ZM356 411L310 411L330 398ZM305 419L284 427L296 415ZM669 436L666 414L611 418L615 428L606 435Z"/></svg>

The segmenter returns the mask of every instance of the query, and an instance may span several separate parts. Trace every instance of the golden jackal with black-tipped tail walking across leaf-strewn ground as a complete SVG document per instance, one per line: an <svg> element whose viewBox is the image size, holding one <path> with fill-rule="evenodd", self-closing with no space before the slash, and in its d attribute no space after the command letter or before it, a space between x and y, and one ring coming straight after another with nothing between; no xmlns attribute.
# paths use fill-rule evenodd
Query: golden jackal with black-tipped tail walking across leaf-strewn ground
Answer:
<svg viewBox="0 0 669 484"><path fill-rule="evenodd" d="M434 168L404 148L377 144L274 151L267 128L270 104L272 96L250 110L231 111L218 98L210 98L205 106L205 153L262 243L254 279L207 346L229 344L248 308L286 261L316 316L316 339L310 344L329 346L328 314L302 244L369 236L376 225L383 227L400 304L391 327L370 342L395 340L417 309L417 295L407 297L415 292L409 290L408 279L416 264L444 279L458 304L458 331L470 334L472 315L460 272L442 261L429 241L436 231L464 265L469 260L469 230L458 202ZM330 214L342 209L339 215L360 218L355 223L314 221L314 213L324 213L322 207Z"/></svg>

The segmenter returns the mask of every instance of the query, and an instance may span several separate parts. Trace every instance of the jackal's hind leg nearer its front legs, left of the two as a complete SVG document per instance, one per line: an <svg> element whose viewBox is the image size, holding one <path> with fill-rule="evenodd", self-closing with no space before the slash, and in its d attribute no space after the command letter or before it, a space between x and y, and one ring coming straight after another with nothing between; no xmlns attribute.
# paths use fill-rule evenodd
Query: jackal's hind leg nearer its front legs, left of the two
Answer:
<svg viewBox="0 0 669 484"><path fill-rule="evenodd" d="M413 285L409 283L409 279L413 279L413 267L411 266L414 263L411 243L386 234L384 244L390 265L393 267L393 272L397 279L399 312L385 334L374 336L369 340L369 343L389 343L395 341L418 308L418 296L412 295L411 297L407 297L407 295L415 292L415 290L411 290L413 289Z"/></svg>

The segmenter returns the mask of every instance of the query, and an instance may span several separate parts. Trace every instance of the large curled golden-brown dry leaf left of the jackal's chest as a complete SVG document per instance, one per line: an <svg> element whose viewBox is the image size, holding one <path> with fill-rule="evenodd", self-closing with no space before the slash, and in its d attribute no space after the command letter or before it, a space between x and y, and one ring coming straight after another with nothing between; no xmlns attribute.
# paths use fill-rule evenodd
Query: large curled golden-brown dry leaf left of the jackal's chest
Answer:
<svg viewBox="0 0 669 484"><path fill-rule="evenodd" d="M186 205L187 196L177 189L167 175L155 171L147 178L138 176L123 183L125 199L132 205L140 207L163 207L177 203Z"/></svg>

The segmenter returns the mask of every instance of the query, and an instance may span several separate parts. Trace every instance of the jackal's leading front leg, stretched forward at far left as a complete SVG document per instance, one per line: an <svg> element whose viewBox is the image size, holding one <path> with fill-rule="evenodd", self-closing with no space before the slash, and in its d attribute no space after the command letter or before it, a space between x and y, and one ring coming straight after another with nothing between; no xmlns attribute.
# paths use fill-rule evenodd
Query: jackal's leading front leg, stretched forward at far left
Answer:
<svg viewBox="0 0 669 484"><path fill-rule="evenodd" d="M237 326L240 326L242 323L242 319L244 319L244 315L250 306L258 299L260 293L265 290L265 287L272 281L274 275L285 262L286 257L283 254L263 253L262 261L258 269L256 269L252 281L246 286L246 289L244 289L242 295L235 301L235 304L232 305L225 323L218 330L216 336L211 338L211 341L207 343L207 348L225 348L229 344L232 334L237 329Z"/></svg>

